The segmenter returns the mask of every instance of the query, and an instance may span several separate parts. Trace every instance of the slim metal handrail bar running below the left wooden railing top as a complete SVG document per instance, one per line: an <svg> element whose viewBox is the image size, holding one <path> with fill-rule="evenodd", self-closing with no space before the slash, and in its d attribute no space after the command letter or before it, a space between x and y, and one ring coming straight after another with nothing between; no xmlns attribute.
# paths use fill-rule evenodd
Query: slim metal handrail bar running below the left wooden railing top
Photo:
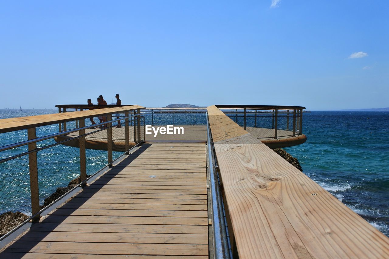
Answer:
<svg viewBox="0 0 389 259"><path fill-rule="evenodd" d="M106 122L96 123L96 124L93 124L93 125L90 125L90 126L85 126L85 127L82 127L82 128L70 129L70 130L67 130L67 131L61 131L59 133L55 133L55 134L52 134L52 135L47 135L47 136L44 136L44 137L34 138L34 139L31 139L31 140L25 140L25 141L22 141L22 142L5 145L5 146L0 147L0 152L8 150L8 149L13 149L13 148L16 148L16 147L21 147L21 146L24 146L24 145L28 145L28 144L31 144L31 143L40 142L40 141L43 141L43 140L48 140L50 138L60 137L60 136L67 135L69 133L74 133L74 132L77 132L77 131L80 131L80 130L85 130L85 129L89 129L89 128L96 127L96 126L103 126L103 125L105 125L107 123L121 121L123 119L128 119L130 117L142 116L142 114L143 113L135 114L135 115L131 115L131 116L128 116L128 117L123 117L123 118L120 118L120 119L114 119L114 120L110 120L110 121L106 121ZM100 130L98 130L98 131L100 131ZM94 131L93 133L96 133L98 131Z"/></svg>

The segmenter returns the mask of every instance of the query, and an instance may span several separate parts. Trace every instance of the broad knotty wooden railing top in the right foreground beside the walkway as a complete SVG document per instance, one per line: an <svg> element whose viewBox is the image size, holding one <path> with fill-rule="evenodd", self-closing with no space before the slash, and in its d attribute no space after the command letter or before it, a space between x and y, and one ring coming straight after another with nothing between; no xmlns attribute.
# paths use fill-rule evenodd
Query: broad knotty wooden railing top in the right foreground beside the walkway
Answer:
<svg viewBox="0 0 389 259"><path fill-rule="evenodd" d="M389 258L389 238L216 106L207 110L239 258Z"/></svg>

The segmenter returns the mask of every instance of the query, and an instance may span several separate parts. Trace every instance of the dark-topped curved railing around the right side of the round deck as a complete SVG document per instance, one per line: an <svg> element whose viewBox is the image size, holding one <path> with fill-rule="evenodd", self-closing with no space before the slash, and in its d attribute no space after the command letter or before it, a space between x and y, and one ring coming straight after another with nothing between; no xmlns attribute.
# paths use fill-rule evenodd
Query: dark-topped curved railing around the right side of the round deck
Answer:
<svg viewBox="0 0 389 259"><path fill-rule="evenodd" d="M256 138L296 137L302 135L301 106L216 105L230 119Z"/></svg>

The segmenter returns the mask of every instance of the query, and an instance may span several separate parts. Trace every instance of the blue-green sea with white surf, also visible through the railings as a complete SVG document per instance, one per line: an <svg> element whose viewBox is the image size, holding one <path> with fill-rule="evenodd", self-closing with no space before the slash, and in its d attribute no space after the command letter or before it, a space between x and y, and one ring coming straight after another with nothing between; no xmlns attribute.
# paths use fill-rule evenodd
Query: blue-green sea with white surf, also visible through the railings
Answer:
<svg viewBox="0 0 389 259"><path fill-rule="evenodd" d="M0 109L0 119L55 112L56 110ZM158 122L165 124L163 121L171 116L154 114L154 124ZM190 122L189 116L193 114L175 114L175 124L180 124L180 121ZM197 123L205 122L204 114L196 116ZM146 123L150 123L149 115L146 117ZM39 128L37 135L43 136L57 131L58 125L46 126ZM389 236L389 112L304 113L303 133L307 135L307 142L286 148L287 152L298 158L303 172ZM0 134L0 146L25 140L26 135L26 131ZM43 154L45 160L41 163L47 170L42 173L44 182L40 185L42 199L53 193L56 187L66 186L69 180L78 176L77 149L60 146L58 148L61 150L54 147ZM22 150L1 152L0 158L17 154ZM64 150L67 156L61 157L60 153ZM106 152L87 150L87 156L88 152L93 152L90 153L87 168L90 174L105 165ZM21 179L24 179L25 182L19 186L25 186L24 188L28 190L28 178L20 178L20 175L28 172L27 170L28 168L24 166L21 172L10 171L12 177L9 177L7 172L4 172L4 167L0 165L0 198L1 202L6 200L6 209L11 210L16 204L26 200L18 198L17 195L15 198L15 193L18 192L12 188L12 182L20 183ZM21 208L23 210L28 206Z"/></svg>

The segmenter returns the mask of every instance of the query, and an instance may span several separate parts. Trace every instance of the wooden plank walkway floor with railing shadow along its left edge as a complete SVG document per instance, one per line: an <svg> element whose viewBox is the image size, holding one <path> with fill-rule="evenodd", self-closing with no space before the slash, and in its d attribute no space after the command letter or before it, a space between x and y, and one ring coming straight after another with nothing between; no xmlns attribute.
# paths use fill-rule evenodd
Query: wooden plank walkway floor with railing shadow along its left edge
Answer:
<svg viewBox="0 0 389 259"><path fill-rule="evenodd" d="M0 258L208 258L205 143L143 144Z"/></svg>

